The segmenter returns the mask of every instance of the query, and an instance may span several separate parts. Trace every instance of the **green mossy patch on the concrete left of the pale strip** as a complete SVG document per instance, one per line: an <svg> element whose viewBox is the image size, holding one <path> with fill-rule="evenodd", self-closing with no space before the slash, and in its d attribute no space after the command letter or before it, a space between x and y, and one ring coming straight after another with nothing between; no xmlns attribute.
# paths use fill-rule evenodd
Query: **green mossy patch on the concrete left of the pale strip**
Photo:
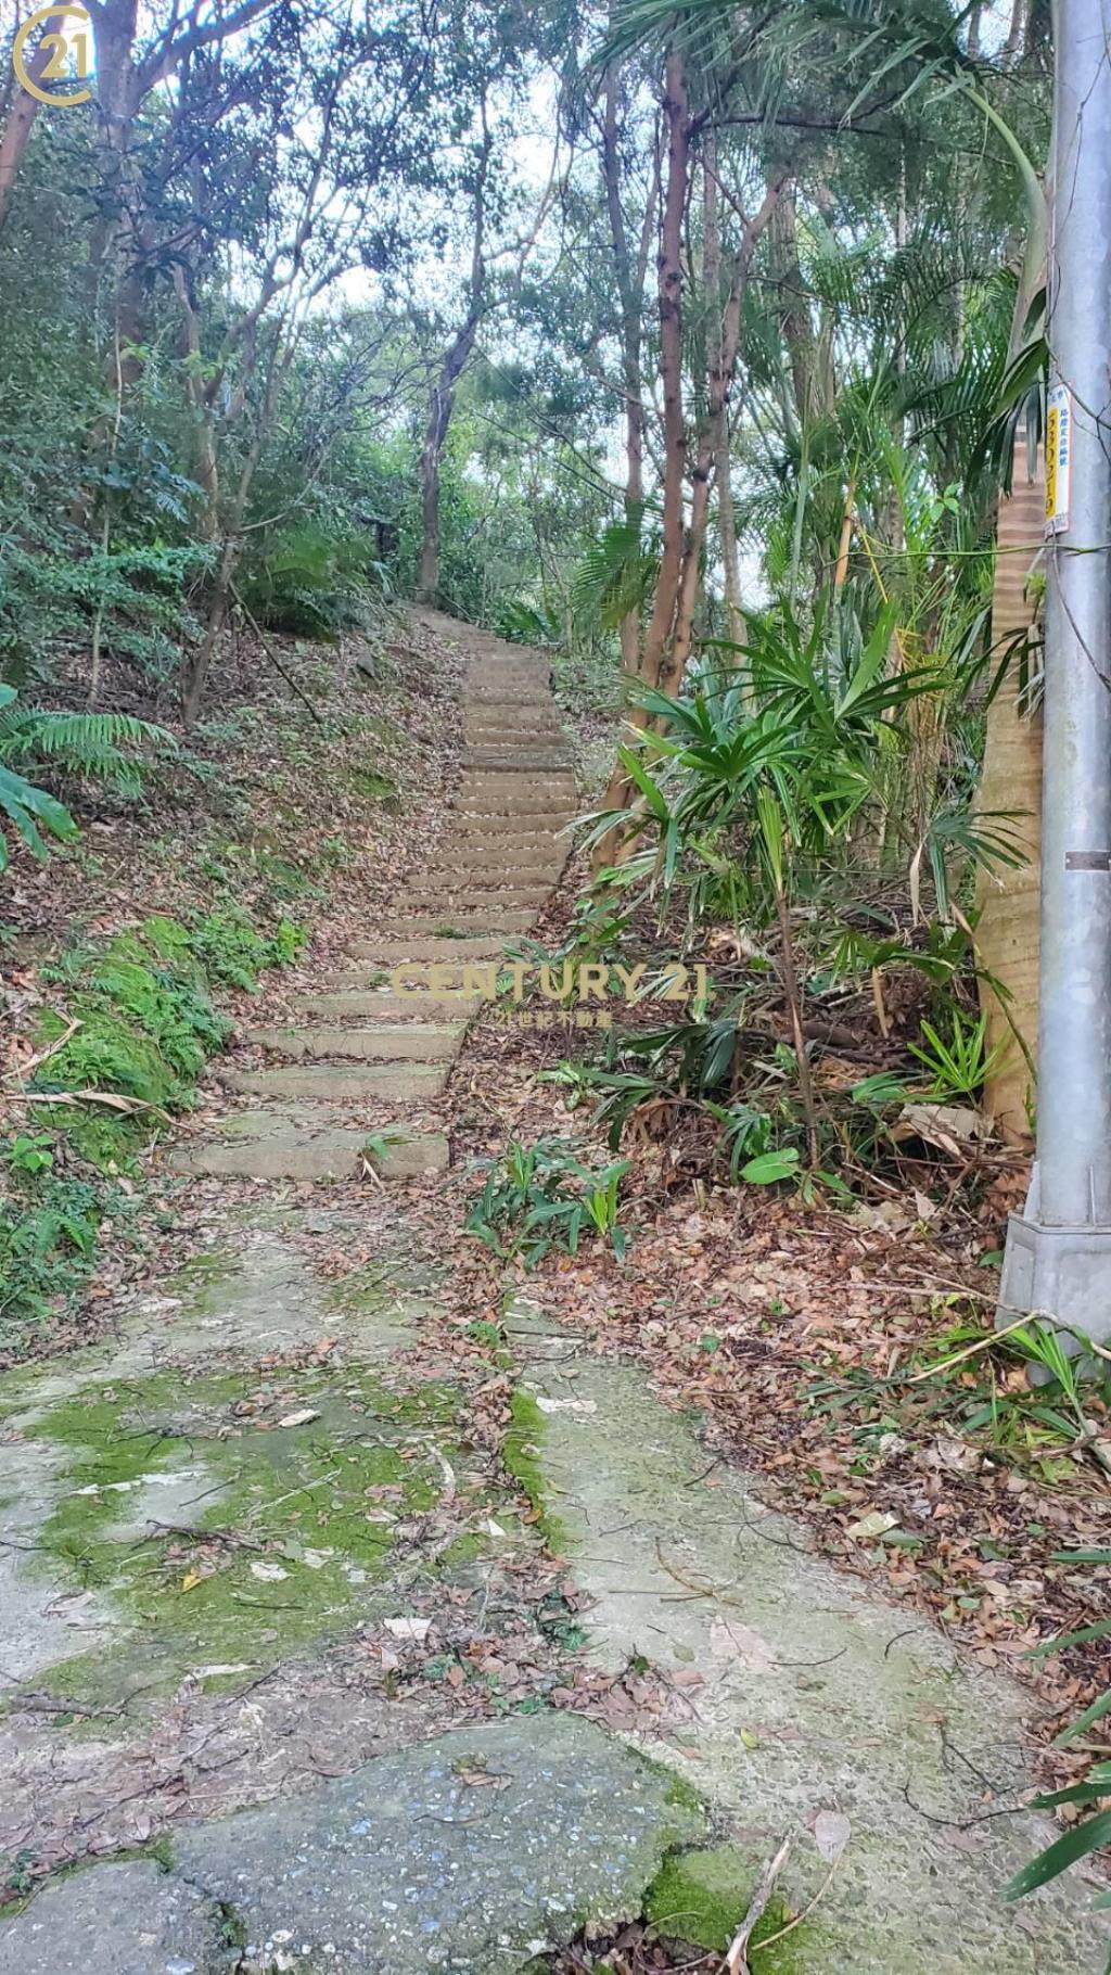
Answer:
<svg viewBox="0 0 1111 1975"><path fill-rule="evenodd" d="M444 1384L399 1394L343 1365L170 1369L47 1406L28 1430L61 1475L32 1568L120 1616L114 1651L55 1665L51 1691L85 1710L184 1673L221 1685L203 1669L241 1679L373 1616L399 1531L407 1548L440 1499L458 1410Z"/></svg>

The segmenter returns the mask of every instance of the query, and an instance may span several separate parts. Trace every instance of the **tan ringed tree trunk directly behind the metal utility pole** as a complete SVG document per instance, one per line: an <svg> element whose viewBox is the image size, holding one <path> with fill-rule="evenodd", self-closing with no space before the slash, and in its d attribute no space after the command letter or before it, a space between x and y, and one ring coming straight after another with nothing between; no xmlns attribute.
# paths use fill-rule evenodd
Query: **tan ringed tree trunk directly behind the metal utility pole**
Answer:
<svg viewBox="0 0 1111 1975"><path fill-rule="evenodd" d="M1028 478L1026 446L1014 446L1014 492L1000 500L997 527L993 642L999 648L1016 634L1026 650L1036 646L1036 598L1026 577L1042 547L1044 468ZM985 1090L985 1104L999 1132L1014 1144L1028 1144L1030 1059L1038 1041L1038 912L1042 847L1042 717L1022 705L1024 650L1018 644L1006 675L987 713L987 747L979 790L979 812L1018 812L1010 828L1026 863L1018 869L983 873L979 883L977 948L979 964L1006 989L1006 1003L981 982L981 1009L987 1015L989 1051L1000 1047L1000 1063ZM991 828L991 824L989 824ZM1020 1037L1020 1041L1016 1039ZM1022 1047L1024 1045L1024 1047Z"/></svg>

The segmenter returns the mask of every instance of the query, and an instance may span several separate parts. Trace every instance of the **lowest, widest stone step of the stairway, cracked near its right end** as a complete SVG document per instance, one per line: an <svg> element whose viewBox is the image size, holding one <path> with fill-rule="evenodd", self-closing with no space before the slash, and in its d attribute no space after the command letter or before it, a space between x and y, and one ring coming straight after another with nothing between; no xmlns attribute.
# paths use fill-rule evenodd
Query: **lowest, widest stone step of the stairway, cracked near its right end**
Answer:
<svg viewBox="0 0 1111 1975"><path fill-rule="evenodd" d="M375 1134L383 1151L369 1151L367 1136L353 1126L312 1126L290 1110L239 1112L221 1120L211 1138L176 1146L170 1165L176 1173L227 1179L351 1179L367 1165L383 1179L446 1171L442 1132L389 1124Z"/></svg>

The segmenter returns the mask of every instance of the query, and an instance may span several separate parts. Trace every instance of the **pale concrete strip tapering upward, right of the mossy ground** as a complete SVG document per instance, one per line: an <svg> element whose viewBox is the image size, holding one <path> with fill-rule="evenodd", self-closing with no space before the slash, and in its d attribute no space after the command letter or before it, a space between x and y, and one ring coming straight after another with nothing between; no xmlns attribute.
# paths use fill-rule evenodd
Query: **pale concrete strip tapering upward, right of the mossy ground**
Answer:
<svg viewBox="0 0 1111 1975"><path fill-rule="evenodd" d="M596 1357L527 1300L507 1331L521 1465L594 1600L592 1655L614 1673L649 1661L689 1695L683 1732L643 1748L738 1835L734 1888L793 1833L779 1886L799 1912L817 1904L791 1936L791 1975L1105 1975L1093 1872L1002 1898L1056 1835L1006 1813L1030 1787L1028 1697L813 1554L805 1525L708 1460L639 1369ZM679 1904L699 1896L697 1864L687 1892L673 1876Z"/></svg>

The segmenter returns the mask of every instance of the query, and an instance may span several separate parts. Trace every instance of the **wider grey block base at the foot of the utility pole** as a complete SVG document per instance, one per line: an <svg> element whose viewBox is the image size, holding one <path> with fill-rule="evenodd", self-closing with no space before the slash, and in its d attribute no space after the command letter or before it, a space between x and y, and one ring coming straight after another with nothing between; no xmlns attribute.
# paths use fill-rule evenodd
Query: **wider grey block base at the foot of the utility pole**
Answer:
<svg viewBox="0 0 1111 1975"><path fill-rule="evenodd" d="M1111 1226L1046 1226L1036 1175L1026 1211L1006 1223L997 1327L1024 1311L1074 1325L1095 1343L1111 1337Z"/></svg>

